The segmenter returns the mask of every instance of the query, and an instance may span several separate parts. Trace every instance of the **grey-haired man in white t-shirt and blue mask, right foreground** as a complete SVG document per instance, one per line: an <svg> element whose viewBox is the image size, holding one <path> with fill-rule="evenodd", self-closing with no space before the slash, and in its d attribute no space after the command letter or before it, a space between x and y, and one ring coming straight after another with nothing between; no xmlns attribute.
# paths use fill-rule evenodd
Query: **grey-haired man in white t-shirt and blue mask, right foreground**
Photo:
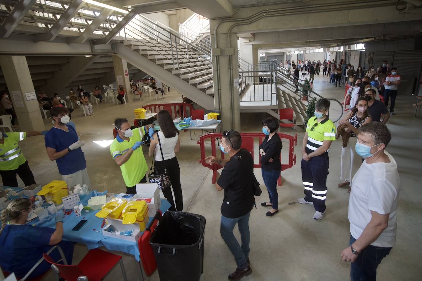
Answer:
<svg viewBox="0 0 422 281"><path fill-rule="evenodd" d="M376 268L395 244L400 178L394 158L385 151L387 126L360 126L356 153L365 158L352 180L349 198L350 242L341 252L351 262L352 281L375 281Z"/></svg>

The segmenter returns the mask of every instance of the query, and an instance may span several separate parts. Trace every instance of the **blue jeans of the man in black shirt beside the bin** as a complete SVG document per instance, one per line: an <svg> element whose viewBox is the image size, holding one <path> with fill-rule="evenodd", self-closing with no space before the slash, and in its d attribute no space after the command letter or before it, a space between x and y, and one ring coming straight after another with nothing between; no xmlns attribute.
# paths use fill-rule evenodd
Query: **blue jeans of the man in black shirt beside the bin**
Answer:
<svg viewBox="0 0 422 281"><path fill-rule="evenodd" d="M251 240L251 234L249 233L250 215L251 212L242 217L237 217L234 219L221 215L221 237L226 242L230 252L232 252L233 256L235 257L236 265L240 269L245 269L248 267L246 260L249 259L249 251L251 250L249 248L249 241ZM236 223L238 224L242 246L239 245L239 242L236 240L233 234L233 228L235 228Z"/></svg>

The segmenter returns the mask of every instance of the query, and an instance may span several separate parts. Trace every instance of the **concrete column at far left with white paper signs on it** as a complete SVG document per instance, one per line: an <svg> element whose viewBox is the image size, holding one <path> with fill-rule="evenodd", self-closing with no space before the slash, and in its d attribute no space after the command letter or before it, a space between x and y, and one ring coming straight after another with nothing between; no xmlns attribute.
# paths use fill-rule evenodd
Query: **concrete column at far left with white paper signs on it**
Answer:
<svg viewBox="0 0 422 281"><path fill-rule="evenodd" d="M45 130L38 99L30 99L35 93L25 56L0 56L0 66L12 98L19 121L20 131ZM27 96L28 99L27 100ZM35 97L38 95L35 93Z"/></svg>

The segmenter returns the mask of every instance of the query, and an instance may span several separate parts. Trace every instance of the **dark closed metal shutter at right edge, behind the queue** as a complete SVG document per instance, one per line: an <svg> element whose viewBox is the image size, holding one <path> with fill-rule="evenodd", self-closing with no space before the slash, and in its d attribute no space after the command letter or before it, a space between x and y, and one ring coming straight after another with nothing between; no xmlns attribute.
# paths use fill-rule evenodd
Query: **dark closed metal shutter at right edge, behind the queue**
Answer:
<svg viewBox="0 0 422 281"><path fill-rule="evenodd" d="M422 51L395 51L392 67L400 75L418 77L422 64Z"/></svg>

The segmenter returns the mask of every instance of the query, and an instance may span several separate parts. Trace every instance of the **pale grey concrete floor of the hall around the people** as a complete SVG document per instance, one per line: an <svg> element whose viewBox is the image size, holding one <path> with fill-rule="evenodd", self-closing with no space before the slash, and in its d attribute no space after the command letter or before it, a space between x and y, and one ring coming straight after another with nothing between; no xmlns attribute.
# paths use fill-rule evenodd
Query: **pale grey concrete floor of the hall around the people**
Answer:
<svg viewBox="0 0 422 281"><path fill-rule="evenodd" d="M342 101L344 88L335 88L327 78L316 76L314 90L323 96ZM165 99L158 102L181 102L177 92L170 92ZM130 102L127 105L98 104L94 105L92 117L79 117L78 110L72 120L76 124L78 134L82 134L86 145L83 147L87 168L92 186L100 191L123 192L124 182L120 169L111 158L109 147L101 147L94 143L100 140L112 140L113 120L116 117L133 119L133 109L142 104L158 103L154 97L143 101ZM421 225L422 194L418 184L419 167L422 160L422 133L420 122L422 115L414 117L411 103L414 98L398 96L396 115L391 116L388 127L392 131L392 141L387 147L398 163L401 191L398 210L398 236L396 246L379 266L378 280L420 280L422 270L419 261L422 257ZM242 131L260 132L261 121L266 114L242 113ZM51 127L51 120L44 120L46 129ZM291 134L291 130L283 130ZM296 203L303 197L303 186L300 172L300 144L303 130L297 128L298 146L296 166L282 172L283 185L279 187L280 212L274 217L265 217L267 208L260 206L268 200L265 186L257 199L257 209L253 209L250 218L252 275L243 278L245 281L325 281L349 280L350 265L340 258L341 251L348 246L349 222L347 206L349 194L345 189L337 187L340 182L341 141L333 142L330 148L330 175L327 179L329 189L327 212L324 219L312 219L312 206ZM181 150L177 153L181 166L181 182L184 194L185 211L202 214L206 217L205 230L205 280L227 280L236 265L219 233L220 206L223 192L215 190L211 184L211 173L197 160L200 158L199 145L196 140L189 139L189 132L181 132ZM196 136L197 137L197 136ZM55 162L51 162L45 151L41 136L27 139L20 144L29 161L35 179L46 184L53 179L61 179ZM144 149L145 150L145 149ZM283 153L286 153L284 149ZM150 160L146 156L147 163ZM284 162L284 161L283 161ZM262 182L260 169L255 169L258 181ZM22 182L20 182L22 184ZM238 231L235 230L238 236ZM87 252L86 246L77 244L73 264L79 262ZM122 254L116 252L117 254ZM122 254L129 280L136 280L133 257ZM52 280L52 274L45 280ZM121 271L114 268L104 280L122 280ZM145 280L159 280L157 271Z"/></svg>

